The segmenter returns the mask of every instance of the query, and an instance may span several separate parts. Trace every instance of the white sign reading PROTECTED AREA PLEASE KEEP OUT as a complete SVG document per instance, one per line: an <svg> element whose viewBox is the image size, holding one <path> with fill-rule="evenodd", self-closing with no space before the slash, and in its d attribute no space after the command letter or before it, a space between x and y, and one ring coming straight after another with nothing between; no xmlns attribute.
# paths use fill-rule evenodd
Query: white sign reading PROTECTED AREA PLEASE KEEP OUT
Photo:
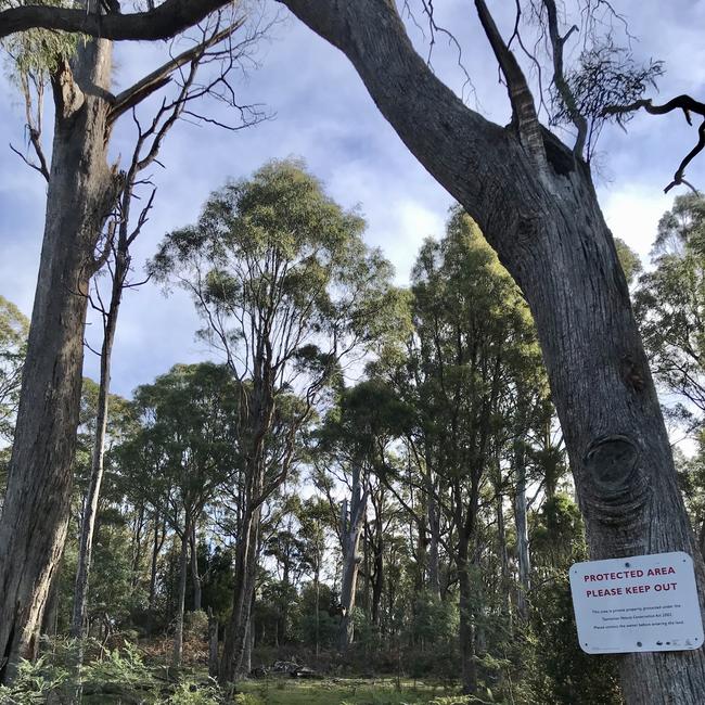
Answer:
<svg viewBox="0 0 705 705"><path fill-rule="evenodd" d="M584 651L684 651L703 644L693 561L681 551L588 561L571 567Z"/></svg>

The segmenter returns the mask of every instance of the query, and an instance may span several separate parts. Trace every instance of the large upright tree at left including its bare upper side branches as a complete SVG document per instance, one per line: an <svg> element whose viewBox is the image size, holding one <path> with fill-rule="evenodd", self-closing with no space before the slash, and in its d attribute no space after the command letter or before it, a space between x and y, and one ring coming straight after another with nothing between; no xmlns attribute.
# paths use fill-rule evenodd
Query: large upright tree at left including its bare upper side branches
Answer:
<svg viewBox="0 0 705 705"><path fill-rule="evenodd" d="M78 12L87 17L98 20L104 11L104 4L97 0L82 4ZM41 120L30 117L30 82L25 78L22 85L28 107L27 127L39 162L34 166L47 179L48 190L15 443L0 517L0 682L14 677L21 657L36 652L41 614L66 536L89 285L110 247L116 244L111 238L114 230L106 230L105 225L119 210L120 192L127 187L125 197L129 202L134 184L133 178L126 179L119 171L118 164L108 163L113 127L121 115L164 88L175 73L187 92L192 88L191 94L198 97L209 92L208 88L193 87L195 68L201 60L208 61L215 43L229 40L242 25L242 21L220 25L219 16L214 21L215 25L203 30L203 41L171 56L117 94L112 93L110 40L59 42L53 33L30 33L20 41L23 56L31 60L33 52L42 56L41 65L36 60L29 65L49 76L54 137L48 165L41 148ZM230 51L226 53L225 72L220 70L219 80L213 84L218 90L227 86L227 73L235 65ZM20 63L21 72L26 70L26 63ZM39 100L44 80L40 76L35 81ZM225 93L218 97L229 100ZM154 120L146 128L139 126L139 158L130 172L138 174L154 162L182 105L178 99L166 99ZM40 106L39 111L41 114ZM144 152L141 148L145 148ZM93 495L97 497L97 492ZM89 507L93 503L91 499ZM33 511L28 512L27 507Z"/></svg>

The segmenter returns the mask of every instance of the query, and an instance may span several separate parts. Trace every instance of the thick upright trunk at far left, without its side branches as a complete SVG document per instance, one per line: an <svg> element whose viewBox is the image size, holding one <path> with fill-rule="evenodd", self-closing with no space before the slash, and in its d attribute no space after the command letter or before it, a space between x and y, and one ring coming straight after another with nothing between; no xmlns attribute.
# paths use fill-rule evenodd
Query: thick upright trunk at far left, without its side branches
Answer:
<svg viewBox="0 0 705 705"><path fill-rule="evenodd" d="M0 681L30 656L68 518L93 253L117 179L107 165L111 43L79 42L56 107L43 245L0 520Z"/></svg>

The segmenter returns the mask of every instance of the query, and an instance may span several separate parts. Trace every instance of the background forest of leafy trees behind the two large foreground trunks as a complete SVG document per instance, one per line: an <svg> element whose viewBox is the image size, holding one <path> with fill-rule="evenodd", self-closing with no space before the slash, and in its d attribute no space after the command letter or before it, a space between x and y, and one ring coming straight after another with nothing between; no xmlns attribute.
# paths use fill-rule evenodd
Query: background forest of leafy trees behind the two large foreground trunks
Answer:
<svg viewBox="0 0 705 705"><path fill-rule="evenodd" d="M695 434L704 211L677 198L638 279L619 247L655 374L692 401L667 411ZM575 639L567 567L588 555L584 525L521 291L460 208L408 289L363 228L283 162L215 192L162 243L152 267L191 293L217 361L110 398L89 654L145 643L193 665L210 640L211 672L236 679L292 661L460 677L492 702L623 702L615 663ZM26 322L8 302L2 332L10 420ZM62 649L99 398L86 379L73 518L42 620ZM681 465L701 528L698 458Z"/></svg>

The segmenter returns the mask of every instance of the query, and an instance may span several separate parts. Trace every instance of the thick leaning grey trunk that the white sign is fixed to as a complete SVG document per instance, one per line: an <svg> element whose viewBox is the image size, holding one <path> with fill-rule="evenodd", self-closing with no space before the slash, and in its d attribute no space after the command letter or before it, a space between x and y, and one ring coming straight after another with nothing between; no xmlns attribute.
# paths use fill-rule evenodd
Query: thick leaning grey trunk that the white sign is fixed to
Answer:
<svg viewBox="0 0 705 705"><path fill-rule="evenodd" d="M352 62L377 107L482 228L529 304L593 559L683 550L703 560L653 380L588 166L542 130L467 108L414 51L388 0L285 0ZM705 702L705 654L621 657L630 704Z"/></svg>

